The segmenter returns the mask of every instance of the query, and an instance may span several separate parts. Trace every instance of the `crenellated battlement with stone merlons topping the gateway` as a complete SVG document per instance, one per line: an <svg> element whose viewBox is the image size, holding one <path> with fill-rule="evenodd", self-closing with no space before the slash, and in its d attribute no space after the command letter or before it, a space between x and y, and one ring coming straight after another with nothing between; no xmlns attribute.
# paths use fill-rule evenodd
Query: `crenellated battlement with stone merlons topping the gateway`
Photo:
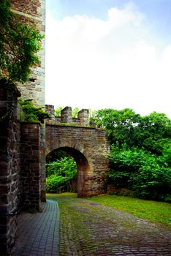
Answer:
<svg viewBox="0 0 171 256"><path fill-rule="evenodd" d="M89 110L82 109L77 113L77 118L72 117L72 108L65 107L61 110L61 116L55 115L53 105L46 105L46 112L50 114L50 118L46 119L47 124L75 124L77 126L90 126Z"/></svg>

